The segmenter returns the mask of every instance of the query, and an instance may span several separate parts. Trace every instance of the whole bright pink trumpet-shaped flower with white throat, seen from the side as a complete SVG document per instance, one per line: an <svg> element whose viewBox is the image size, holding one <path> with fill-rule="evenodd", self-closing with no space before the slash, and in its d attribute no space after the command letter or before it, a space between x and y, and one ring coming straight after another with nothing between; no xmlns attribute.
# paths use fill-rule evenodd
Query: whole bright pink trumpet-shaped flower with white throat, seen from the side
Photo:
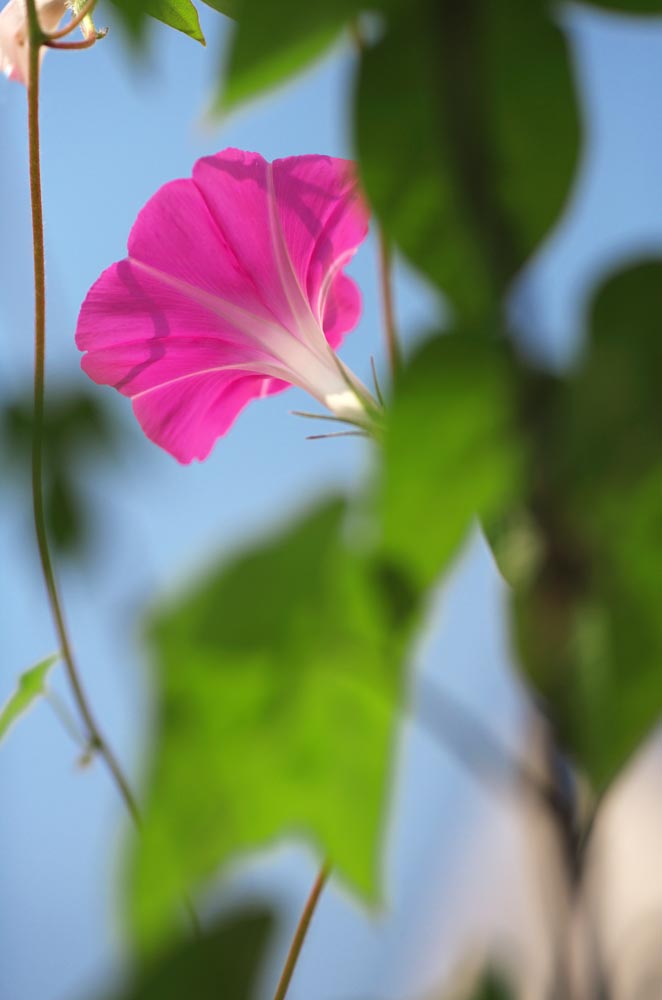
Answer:
<svg viewBox="0 0 662 1000"><path fill-rule="evenodd" d="M206 458L247 403L290 385L369 428L377 404L335 354L360 315L343 269L367 228L345 160L205 157L148 201L128 257L90 289L82 367L130 397L180 462Z"/></svg>

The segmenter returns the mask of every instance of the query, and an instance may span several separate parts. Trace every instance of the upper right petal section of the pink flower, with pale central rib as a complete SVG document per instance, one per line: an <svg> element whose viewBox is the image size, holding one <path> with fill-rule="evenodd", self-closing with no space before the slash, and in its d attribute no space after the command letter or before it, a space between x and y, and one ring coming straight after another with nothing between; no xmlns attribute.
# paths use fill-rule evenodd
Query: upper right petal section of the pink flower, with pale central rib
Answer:
<svg viewBox="0 0 662 1000"><path fill-rule="evenodd" d="M315 340L329 283L367 233L352 164L296 156L271 165L257 153L226 149L199 160L193 177L273 317Z"/></svg>

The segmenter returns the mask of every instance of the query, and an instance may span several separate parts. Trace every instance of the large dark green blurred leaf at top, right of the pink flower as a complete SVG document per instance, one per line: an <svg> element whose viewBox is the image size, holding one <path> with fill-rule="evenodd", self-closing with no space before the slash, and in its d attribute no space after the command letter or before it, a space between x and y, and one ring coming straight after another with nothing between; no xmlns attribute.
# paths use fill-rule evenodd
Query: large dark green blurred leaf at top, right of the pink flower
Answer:
<svg viewBox="0 0 662 1000"><path fill-rule="evenodd" d="M385 230L466 318L496 309L568 195L565 40L532 0L419 0L362 61L357 140Z"/></svg>

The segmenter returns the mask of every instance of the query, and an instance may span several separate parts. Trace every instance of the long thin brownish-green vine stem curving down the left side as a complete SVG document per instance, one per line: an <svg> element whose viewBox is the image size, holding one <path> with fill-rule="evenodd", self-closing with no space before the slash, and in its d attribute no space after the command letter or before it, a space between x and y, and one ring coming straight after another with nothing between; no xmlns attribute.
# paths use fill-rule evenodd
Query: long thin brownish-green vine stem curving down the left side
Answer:
<svg viewBox="0 0 662 1000"><path fill-rule="evenodd" d="M113 751L97 725L82 686L69 633L65 624L62 602L60 600L48 544L43 492L46 268L39 142L39 54L46 38L39 24L35 0L27 0L27 12L29 25L28 142L35 302L34 409L32 430L32 506L35 535L42 576L48 595L55 631L58 636L60 652L76 705L85 723L90 749L96 751L105 761L132 819L137 826L140 826L140 813L136 799Z"/></svg>

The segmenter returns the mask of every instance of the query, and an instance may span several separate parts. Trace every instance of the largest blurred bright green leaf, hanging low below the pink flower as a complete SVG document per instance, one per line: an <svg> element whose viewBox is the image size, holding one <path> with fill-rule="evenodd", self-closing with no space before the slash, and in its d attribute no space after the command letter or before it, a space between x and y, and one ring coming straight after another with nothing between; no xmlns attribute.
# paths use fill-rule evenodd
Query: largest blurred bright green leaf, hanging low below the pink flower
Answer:
<svg viewBox="0 0 662 1000"><path fill-rule="evenodd" d="M162 703L135 871L138 930L183 885L285 835L375 895L405 624L391 581L317 509L154 618Z"/></svg>

